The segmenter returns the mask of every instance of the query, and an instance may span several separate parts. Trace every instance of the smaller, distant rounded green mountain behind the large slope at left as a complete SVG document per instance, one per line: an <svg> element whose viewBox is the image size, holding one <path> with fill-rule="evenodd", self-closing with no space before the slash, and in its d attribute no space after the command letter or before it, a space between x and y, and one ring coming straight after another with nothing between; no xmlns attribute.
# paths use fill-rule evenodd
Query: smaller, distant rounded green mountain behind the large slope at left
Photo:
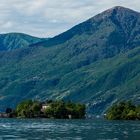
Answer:
<svg viewBox="0 0 140 140"><path fill-rule="evenodd" d="M13 49L24 48L30 44L43 40L45 39L33 37L23 33L0 34L0 51L10 51Z"/></svg>

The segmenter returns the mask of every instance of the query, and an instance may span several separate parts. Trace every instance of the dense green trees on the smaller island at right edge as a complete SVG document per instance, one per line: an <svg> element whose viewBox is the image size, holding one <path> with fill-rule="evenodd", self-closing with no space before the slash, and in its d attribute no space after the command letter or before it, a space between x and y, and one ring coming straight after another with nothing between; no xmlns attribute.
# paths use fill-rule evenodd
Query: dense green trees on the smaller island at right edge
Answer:
<svg viewBox="0 0 140 140"><path fill-rule="evenodd" d="M106 118L109 120L140 120L140 106L135 106L130 101L112 105Z"/></svg>

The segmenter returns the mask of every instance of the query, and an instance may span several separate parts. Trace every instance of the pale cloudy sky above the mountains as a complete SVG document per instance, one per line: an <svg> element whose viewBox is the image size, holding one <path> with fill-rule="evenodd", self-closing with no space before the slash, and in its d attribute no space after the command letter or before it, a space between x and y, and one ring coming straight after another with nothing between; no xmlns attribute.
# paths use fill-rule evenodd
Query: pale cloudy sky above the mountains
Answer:
<svg viewBox="0 0 140 140"><path fill-rule="evenodd" d="M53 37L114 6L140 11L140 0L0 0L0 34Z"/></svg>

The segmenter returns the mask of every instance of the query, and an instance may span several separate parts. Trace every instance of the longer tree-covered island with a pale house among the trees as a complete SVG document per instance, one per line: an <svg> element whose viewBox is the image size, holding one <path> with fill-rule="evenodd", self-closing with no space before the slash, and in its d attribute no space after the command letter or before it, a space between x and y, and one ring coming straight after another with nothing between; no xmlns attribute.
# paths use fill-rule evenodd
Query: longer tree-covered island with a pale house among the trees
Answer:
<svg viewBox="0 0 140 140"><path fill-rule="evenodd" d="M54 118L54 119L83 119L86 107L81 103L71 101L45 102L25 100L19 103L15 110L7 108L1 113L3 118Z"/></svg>

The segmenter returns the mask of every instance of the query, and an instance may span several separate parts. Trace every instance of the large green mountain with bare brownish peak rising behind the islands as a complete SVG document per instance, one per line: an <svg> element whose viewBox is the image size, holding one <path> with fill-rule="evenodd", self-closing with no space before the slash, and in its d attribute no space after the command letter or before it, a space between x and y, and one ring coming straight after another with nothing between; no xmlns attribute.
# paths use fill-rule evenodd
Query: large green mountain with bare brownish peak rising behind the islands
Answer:
<svg viewBox="0 0 140 140"><path fill-rule="evenodd" d="M64 99L103 114L140 103L140 14L113 7L49 40L0 52L0 109L24 99Z"/></svg>

